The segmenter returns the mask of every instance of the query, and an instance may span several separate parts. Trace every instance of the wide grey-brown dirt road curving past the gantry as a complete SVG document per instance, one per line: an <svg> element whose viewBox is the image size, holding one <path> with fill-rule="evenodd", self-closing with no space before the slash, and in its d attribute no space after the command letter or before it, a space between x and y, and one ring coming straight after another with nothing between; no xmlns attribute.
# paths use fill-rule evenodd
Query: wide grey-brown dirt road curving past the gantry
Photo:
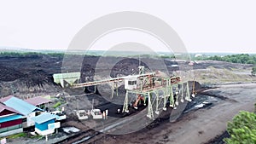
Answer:
<svg viewBox="0 0 256 144"><path fill-rule="evenodd" d="M175 123L127 135L108 137L105 143L200 144L207 143L226 129L226 124L241 110L253 111L256 102L256 84L219 85L218 89L204 91L206 95L224 96L224 101L209 109L200 109L183 115ZM97 141L102 142L102 141Z"/></svg>

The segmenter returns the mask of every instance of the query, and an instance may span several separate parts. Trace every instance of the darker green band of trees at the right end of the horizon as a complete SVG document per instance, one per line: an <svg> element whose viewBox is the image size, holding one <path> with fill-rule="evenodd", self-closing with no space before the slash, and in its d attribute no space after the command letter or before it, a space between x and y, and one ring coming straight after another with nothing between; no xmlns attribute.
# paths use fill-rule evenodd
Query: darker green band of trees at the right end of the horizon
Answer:
<svg viewBox="0 0 256 144"><path fill-rule="evenodd" d="M195 58L195 60L219 60L232 63L241 63L241 64L253 64L256 65L256 55L248 54L239 54L239 55L224 55L224 56L210 56L206 55Z"/></svg>

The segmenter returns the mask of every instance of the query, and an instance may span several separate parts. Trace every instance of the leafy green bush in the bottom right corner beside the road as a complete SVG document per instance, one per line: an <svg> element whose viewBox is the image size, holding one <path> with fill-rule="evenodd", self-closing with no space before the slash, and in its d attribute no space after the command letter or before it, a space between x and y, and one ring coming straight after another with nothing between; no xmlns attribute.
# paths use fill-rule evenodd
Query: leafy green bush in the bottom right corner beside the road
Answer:
<svg viewBox="0 0 256 144"><path fill-rule="evenodd" d="M256 114L253 112L239 112L228 123L230 138L225 138L227 144L256 143Z"/></svg>

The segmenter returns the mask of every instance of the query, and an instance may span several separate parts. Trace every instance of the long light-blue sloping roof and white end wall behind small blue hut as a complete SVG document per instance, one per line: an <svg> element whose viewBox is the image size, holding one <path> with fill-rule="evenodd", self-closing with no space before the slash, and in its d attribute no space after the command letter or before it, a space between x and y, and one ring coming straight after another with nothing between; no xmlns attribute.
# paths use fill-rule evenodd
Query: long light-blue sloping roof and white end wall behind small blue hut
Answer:
<svg viewBox="0 0 256 144"><path fill-rule="evenodd" d="M26 101L22 101L15 96L10 97L6 101L3 101L3 104L7 107L15 109L15 111L26 117L26 122L23 124L23 128L33 126L35 123L31 118L39 115L40 112L44 111L41 108L35 107Z"/></svg>

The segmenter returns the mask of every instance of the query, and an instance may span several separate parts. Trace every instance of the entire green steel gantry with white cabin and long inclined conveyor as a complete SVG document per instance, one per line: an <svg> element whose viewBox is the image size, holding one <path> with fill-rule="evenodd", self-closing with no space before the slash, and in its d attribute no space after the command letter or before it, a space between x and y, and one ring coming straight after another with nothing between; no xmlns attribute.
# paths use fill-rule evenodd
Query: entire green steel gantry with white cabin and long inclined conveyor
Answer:
<svg viewBox="0 0 256 144"><path fill-rule="evenodd" d="M122 112L129 112L129 106L137 109L138 102L143 101L145 106L148 104L147 117L152 119L154 119L154 113L159 114L160 110L166 111L166 107L176 109L179 101L191 101L189 82L182 82L180 77L165 76L161 72L144 72L144 66L138 68L137 75L73 84L72 88L112 83L113 98L114 89L118 95L117 83L125 82L125 101ZM193 93L192 96L194 97L195 94Z"/></svg>

